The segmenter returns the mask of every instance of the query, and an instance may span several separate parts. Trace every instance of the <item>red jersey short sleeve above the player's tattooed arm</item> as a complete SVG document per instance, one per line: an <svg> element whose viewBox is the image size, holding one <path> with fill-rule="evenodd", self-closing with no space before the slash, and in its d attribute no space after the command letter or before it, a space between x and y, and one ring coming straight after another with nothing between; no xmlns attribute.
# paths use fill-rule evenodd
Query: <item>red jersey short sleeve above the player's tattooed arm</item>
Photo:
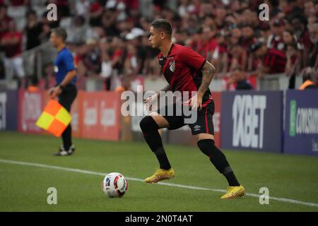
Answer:
<svg viewBox="0 0 318 226"><path fill-rule="evenodd" d="M199 70L206 62L206 59L200 54L196 53L193 49L189 47L184 47L184 49L179 54L179 59L184 64Z"/></svg>

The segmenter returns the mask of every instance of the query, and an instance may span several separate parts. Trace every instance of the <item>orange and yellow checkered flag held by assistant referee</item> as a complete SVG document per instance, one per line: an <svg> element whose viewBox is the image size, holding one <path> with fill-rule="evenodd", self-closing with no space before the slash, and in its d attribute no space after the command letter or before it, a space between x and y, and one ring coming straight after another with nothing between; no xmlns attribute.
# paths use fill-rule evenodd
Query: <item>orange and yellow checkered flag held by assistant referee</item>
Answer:
<svg viewBox="0 0 318 226"><path fill-rule="evenodd" d="M71 114L57 100L49 100L35 124L59 137L69 125L71 119Z"/></svg>

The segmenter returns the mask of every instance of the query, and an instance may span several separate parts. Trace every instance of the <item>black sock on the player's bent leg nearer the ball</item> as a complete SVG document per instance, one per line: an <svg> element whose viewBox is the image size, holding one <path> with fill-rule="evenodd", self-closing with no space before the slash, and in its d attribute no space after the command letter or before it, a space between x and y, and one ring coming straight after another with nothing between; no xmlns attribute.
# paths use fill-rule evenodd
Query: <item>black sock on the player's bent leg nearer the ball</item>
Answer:
<svg viewBox="0 0 318 226"><path fill-rule="evenodd" d="M158 133L158 125L155 123L152 117L144 117L140 122L141 130L143 131L143 137L148 143L149 148L155 153L160 164L160 169L170 169L171 165L165 154L165 148L163 148L163 141Z"/></svg>

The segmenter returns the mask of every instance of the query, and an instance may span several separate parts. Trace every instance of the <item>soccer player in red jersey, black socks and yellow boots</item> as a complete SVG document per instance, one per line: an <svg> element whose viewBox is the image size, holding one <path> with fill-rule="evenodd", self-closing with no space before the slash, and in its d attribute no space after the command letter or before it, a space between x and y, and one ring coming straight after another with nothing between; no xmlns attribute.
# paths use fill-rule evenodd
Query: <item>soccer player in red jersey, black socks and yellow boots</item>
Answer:
<svg viewBox="0 0 318 226"><path fill-rule="evenodd" d="M218 169L218 172L227 179L229 187L226 194L221 198L237 198L244 196L245 189L235 177L225 155L214 143L213 113L214 102L208 86L215 73L214 66L206 61L204 57L194 52L189 47L172 43L172 26L168 20L156 19L151 23L149 41L153 48L159 48L159 64L163 74L169 83L162 91L196 91L186 102L189 107L196 109L197 119L194 124L188 124L192 135L196 136L199 149L209 157L210 161ZM148 97L145 102L158 100L160 93ZM175 176L170 162L165 154L158 129L178 129L184 126L184 115L161 115L152 112L150 116L144 117L141 122L143 136L149 148L156 155L160 163L158 169L151 177L145 179L146 183L157 183L164 179Z"/></svg>

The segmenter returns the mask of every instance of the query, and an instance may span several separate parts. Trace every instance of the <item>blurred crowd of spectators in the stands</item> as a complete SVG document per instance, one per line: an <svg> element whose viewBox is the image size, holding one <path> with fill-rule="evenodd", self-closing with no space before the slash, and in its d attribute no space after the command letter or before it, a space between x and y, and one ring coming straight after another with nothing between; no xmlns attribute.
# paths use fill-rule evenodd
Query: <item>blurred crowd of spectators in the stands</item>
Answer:
<svg viewBox="0 0 318 226"><path fill-rule="evenodd" d="M57 5L57 21L47 20L50 3ZM264 3L268 21L259 19ZM227 89L253 88L249 76L276 73L288 76L288 88L298 88L297 77L318 85L318 1L307 0L0 0L0 78L54 85L54 57L42 57L40 69L33 66L40 73L25 65L38 57L34 49L49 49L50 30L61 26L80 86L100 78L104 90L129 89L136 76L156 79L162 76L158 49L148 45L155 18L170 20L173 42L211 61Z"/></svg>

